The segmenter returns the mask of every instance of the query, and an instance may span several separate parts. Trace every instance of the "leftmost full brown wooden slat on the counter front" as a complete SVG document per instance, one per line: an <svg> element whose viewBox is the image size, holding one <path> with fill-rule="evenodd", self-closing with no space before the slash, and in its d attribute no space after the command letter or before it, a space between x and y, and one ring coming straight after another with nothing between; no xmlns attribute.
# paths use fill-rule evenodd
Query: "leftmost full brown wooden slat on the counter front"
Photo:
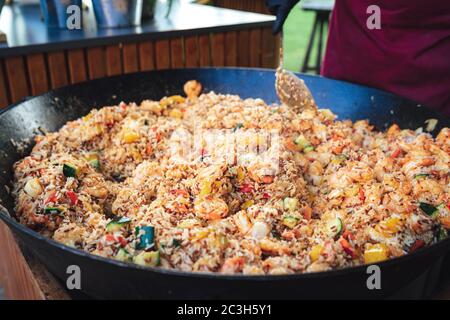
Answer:
<svg viewBox="0 0 450 320"><path fill-rule="evenodd" d="M17 102L30 95L27 71L22 57L5 59L6 75L9 83L11 102Z"/></svg>

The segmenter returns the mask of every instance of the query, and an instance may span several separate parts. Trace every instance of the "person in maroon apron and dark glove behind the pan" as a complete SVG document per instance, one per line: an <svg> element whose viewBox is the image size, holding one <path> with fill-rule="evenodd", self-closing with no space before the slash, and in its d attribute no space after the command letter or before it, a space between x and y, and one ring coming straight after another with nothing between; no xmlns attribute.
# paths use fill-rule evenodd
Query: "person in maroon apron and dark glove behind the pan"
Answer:
<svg viewBox="0 0 450 320"><path fill-rule="evenodd" d="M277 15L274 33L298 2L266 0ZM373 28L372 5L380 9L380 29ZM321 73L383 89L450 116L450 3L336 0Z"/></svg>

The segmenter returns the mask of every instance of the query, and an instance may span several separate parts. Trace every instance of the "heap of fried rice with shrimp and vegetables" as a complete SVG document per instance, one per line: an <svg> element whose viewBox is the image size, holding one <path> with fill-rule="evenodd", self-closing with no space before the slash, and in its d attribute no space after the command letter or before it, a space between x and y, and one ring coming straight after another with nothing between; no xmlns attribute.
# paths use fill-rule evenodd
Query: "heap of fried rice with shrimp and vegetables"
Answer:
<svg viewBox="0 0 450 320"><path fill-rule="evenodd" d="M449 128L380 132L195 81L185 91L37 136L14 167L20 222L124 262L249 275L373 264L447 237ZM211 130L227 139L190 141ZM272 145L239 161L258 132ZM173 151L186 144L188 156Z"/></svg>

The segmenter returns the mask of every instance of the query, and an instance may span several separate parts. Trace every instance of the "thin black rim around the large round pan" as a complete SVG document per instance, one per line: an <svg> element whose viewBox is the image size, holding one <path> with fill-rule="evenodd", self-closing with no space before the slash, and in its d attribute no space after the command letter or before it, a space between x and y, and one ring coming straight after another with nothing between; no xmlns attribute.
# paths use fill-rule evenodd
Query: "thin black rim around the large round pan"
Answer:
<svg viewBox="0 0 450 320"><path fill-rule="evenodd" d="M33 99L37 99L39 97L43 97L43 96L57 96L58 92L60 91L64 91L67 90L69 88L73 88L73 87L83 87L83 86L87 86L87 85L95 85L95 82L100 82L103 81L105 79L119 79L119 78L124 78L124 77L132 77L132 76L136 76L138 74L152 74L152 73L158 73L158 72L183 72L183 71L196 71L196 70L230 70L230 71L257 71L257 72L269 72L269 73L274 73L275 71L273 69L266 69L266 68L237 68L237 67L204 67L204 68L185 68L185 69L168 69L168 70L152 70L152 71L145 71L145 72L135 72L135 73L130 73L130 74L126 74L126 75L118 75L118 76L112 76L112 77L104 77L104 78L100 78L100 79L95 79L95 80L88 80L88 81L84 81L81 83L77 83L77 84L73 84L73 85L67 85L58 89L54 89L51 91L48 91L44 94L38 95L38 96L33 96L33 97L27 97L22 99L21 101L18 101L10 106L8 106L7 108L0 110L0 117L3 116L5 113L13 110L16 107L19 107L22 103L24 103L25 101L31 101ZM301 73L297 73L297 74L301 74ZM321 76L315 76L315 75L308 75L308 74L301 74L302 76L306 77L306 78L323 78L323 79L327 79L327 80L331 80L331 81L335 81L335 82L340 82L340 83L345 83L345 84L349 84L355 87L362 87L362 88L367 88L364 87L360 84L355 84L355 83L350 83L350 82L346 82L346 81L341 81L341 80L335 80L335 79L329 79L329 78L324 78ZM383 90L379 90L376 88L370 88L371 90L373 90L374 92L380 92L383 94L389 94L392 96L395 96L392 93L383 91ZM405 100L409 100L406 98L403 98ZM409 100L411 101L411 100ZM419 104L419 103L415 103L417 106L420 106L421 108L427 108L426 106ZM427 108L428 109L428 108ZM438 113L436 113L435 111L432 110L432 112L434 114L436 114L437 116L440 116L442 118L446 118L446 116L444 115L440 115ZM38 240L40 242L45 242L46 244L53 246L53 247L57 247L60 250L64 250L66 252L69 252L71 254L77 255L79 257L83 257L83 258L87 258L87 259L91 259L91 260L95 260L101 263L107 263L107 264L111 264L114 265L116 267L120 267L120 268L132 268L132 269L136 269L136 270L141 270L141 271L146 271L146 272L154 272L154 273L158 273L161 275L172 275L172 276L178 276L178 277L189 277L189 278L206 278L206 279L220 279L220 280L229 280L229 281L241 281L241 280L245 280L245 281L277 281L277 280L301 280L301 279L318 279L318 278L328 278L328 277L335 277L335 276L344 276L347 274L353 274L353 273L365 273L367 270L367 267L369 265L359 265L359 266L354 266L354 267L348 267L348 268L343 268L343 269L337 269L337 270L330 270L330 271L324 271L324 272L311 272L311 273L294 273L294 274L287 274L287 275L242 275L242 274L234 274L234 275L228 275L228 274L221 274L221 273L207 273L207 272L185 272L185 271L179 271L176 269L163 269L163 268L159 268L159 267L143 267L143 266L139 266L133 263L126 263L126 262L120 262L114 259L109 259L109 258L105 258L105 257L101 257L101 256L97 256L94 254L91 254L87 251L84 250L80 250L80 249L76 249L73 247L69 247L67 245L64 245L62 243L59 243L53 239L47 238L41 234L39 234L38 232L20 224L15 218L13 218L9 212L3 208L2 206L0 206L0 219L3 220L9 227L11 227L12 231L16 232L16 231L20 231L22 233L27 234L28 236L35 238L35 240ZM443 248L446 248L446 252L450 251L450 238L447 238L443 241L440 241L438 243L435 243L431 246L428 246L426 248L420 249L416 252L410 253L410 254L406 254L404 256L401 257L397 257L397 258L392 258L380 263L377 263L376 265L379 266L380 268L383 267L388 267L390 265L396 265L396 264L400 264L403 262L407 262L408 260L411 259L415 259L415 257L419 257L419 256L424 256L424 255L428 255L431 254L433 251L437 251L437 250L441 250Z"/></svg>

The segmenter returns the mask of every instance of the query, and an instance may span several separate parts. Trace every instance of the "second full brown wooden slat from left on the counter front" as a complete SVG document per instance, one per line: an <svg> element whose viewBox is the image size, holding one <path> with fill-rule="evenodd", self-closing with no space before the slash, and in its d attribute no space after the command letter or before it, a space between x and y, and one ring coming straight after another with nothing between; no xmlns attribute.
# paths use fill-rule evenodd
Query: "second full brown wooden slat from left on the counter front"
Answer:
<svg viewBox="0 0 450 320"><path fill-rule="evenodd" d="M28 77L32 95L45 93L49 89L47 67L42 53L31 54L26 57Z"/></svg>

